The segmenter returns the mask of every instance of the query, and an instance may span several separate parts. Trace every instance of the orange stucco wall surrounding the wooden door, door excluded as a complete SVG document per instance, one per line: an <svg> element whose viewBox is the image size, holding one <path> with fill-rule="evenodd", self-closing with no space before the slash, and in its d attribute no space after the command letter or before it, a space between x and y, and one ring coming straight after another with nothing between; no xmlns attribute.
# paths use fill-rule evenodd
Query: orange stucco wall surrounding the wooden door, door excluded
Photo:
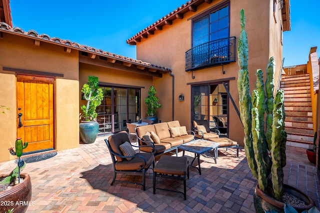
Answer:
<svg viewBox="0 0 320 213"><path fill-rule="evenodd" d="M64 74L55 77L54 126L57 150L77 147L78 129L78 51L64 52L59 45L3 33L0 38L0 105L10 107L0 114L0 161L14 158L7 148L14 147L17 122L16 73L3 67Z"/></svg>

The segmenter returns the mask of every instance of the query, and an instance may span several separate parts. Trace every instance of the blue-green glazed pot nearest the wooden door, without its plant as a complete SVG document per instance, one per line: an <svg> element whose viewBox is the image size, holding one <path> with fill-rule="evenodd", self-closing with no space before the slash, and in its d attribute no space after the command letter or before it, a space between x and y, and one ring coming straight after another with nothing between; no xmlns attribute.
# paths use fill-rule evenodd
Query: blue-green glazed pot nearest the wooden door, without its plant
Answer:
<svg viewBox="0 0 320 213"><path fill-rule="evenodd" d="M99 132L99 124L95 120L81 121L79 124L80 137L84 143L93 143Z"/></svg>

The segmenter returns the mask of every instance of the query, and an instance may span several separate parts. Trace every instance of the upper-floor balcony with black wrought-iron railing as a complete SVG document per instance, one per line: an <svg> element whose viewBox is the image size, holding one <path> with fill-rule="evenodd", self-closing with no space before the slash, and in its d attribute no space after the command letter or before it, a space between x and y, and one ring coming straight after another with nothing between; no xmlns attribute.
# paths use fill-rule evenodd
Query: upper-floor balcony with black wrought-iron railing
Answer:
<svg viewBox="0 0 320 213"><path fill-rule="evenodd" d="M235 37L212 40L185 52L185 71L227 64L235 61Z"/></svg>

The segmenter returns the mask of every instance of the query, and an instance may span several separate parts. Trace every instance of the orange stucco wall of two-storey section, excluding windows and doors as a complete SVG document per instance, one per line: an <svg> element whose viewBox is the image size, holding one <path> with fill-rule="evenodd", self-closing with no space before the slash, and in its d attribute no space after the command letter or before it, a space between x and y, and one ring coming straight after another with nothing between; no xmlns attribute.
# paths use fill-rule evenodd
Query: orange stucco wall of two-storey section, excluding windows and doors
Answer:
<svg viewBox="0 0 320 213"><path fill-rule="evenodd" d="M137 59L161 64L172 69L174 75L174 119L179 120L180 124L186 125L188 129L191 128L191 86L187 83L235 77L235 80L229 81L229 90L238 105L236 79L239 67L237 62L224 65L225 74L222 74L221 66L196 70L193 72L194 79L191 77L191 72L185 72L185 51L191 48L192 20L188 20L188 18L194 17L210 7L214 8L219 2L202 3L197 7L196 12L185 13L183 19L174 19L172 25L164 25L162 30L156 30L153 35L148 35L147 39L141 39L141 42L136 43ZM249 43L248 69L252 90L256 79L256 69L265 70L270 56L275 56L276 71L280 71L282 60L281 10L275 10L277 18L275 23L273 0L230 0L230 36L235 36L236 39L240 34L239 11L241 8L244 8L246 16ZM154 78L152 83L157 89L159 102L164 103L163 107L158 109L158 117L162 121L171 120L172 77L166 74L161 79ZM184 101L178 101L178 96L181 93L184 94ZM229 137L243 145L243 129L240 126L240 120L230 102Z"/></svg>

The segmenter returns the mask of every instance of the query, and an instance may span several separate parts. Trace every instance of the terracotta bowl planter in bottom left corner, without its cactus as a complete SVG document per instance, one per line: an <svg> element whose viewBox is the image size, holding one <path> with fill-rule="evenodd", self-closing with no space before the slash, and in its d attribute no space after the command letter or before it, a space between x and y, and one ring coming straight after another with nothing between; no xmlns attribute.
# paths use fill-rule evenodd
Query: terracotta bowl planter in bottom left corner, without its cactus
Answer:
<svg viewBox="0 0 320 213"><path fill-rule="evenodd" d="M20 174L23 181L0 192L0 212L8 212L14 208L14 212L25 212L28 205L32 205L31 178L28 174ZM4 176L0 176L4 177Z"/></svg>

